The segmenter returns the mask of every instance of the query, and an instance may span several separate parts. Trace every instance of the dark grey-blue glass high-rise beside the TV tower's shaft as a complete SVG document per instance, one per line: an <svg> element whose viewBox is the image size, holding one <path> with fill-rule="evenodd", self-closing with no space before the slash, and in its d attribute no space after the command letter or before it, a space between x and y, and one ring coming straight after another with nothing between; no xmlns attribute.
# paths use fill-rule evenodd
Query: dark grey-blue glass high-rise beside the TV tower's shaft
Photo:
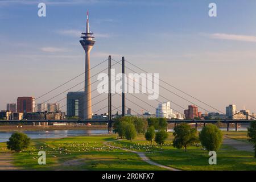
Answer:
<svg viewBox="0 0 256 182"><path fill-rule="evenodd" d="M67 94L67 116L84 118L84 92L68 92Z"/></svg>

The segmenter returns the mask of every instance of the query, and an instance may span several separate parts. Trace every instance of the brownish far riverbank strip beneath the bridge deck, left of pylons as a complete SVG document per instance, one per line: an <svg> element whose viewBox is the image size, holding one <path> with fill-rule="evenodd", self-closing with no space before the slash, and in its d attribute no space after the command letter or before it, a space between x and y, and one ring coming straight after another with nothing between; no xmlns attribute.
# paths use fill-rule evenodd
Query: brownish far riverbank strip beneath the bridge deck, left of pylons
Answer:
<svg viewBox="0 0 256 182"><path fill-rule="evenodd" d="M31 126L0 125L0 131L42 131L42 130L108 130L108 125L74 125L74 126Z"/></svg>

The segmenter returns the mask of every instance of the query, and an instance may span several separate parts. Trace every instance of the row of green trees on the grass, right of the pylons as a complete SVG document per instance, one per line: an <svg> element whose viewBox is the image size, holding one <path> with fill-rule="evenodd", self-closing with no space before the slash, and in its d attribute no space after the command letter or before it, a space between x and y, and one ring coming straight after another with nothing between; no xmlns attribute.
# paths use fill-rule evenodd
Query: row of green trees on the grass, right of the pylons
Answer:
<svg viewBox="0 0 256 182"><path fill-rule="evenodd" d="M162 148L164 142L168 138L167 121L165 118L137 118L137 117L122 117L114 122L114 132L118 133L120 138L126 138L132 141L137 133L144 134L146 140L153 141ZM216 125L209 124L203 127L199 137L197 137L196 129L192 128L187 123L181 123L174 128L173 145L176 148L184 148L201 142L208 151L217 151L222 143L222 133Z"/></svg>

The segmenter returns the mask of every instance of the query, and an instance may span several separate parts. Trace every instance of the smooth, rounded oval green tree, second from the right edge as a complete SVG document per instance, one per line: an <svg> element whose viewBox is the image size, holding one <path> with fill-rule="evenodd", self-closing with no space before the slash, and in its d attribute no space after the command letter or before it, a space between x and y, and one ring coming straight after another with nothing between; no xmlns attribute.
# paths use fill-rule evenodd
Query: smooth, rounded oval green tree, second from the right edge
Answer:
<svg viewBox="0 0 256 182"><path fill-rule="evenodd" d="M216 125L208 124L199 133L199 139L208 151L217 151L222 144L222 132Z"/></svg>

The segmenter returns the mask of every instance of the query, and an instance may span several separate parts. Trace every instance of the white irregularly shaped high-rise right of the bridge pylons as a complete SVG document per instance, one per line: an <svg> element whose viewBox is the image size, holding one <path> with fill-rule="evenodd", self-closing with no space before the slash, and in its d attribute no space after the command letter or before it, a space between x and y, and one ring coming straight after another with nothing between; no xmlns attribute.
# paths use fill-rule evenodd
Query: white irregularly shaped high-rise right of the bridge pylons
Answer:
<svg viewBox="0 0 256 182"><path fill-rule="evenodd" d="M156 118L173 118L176 117L176 114L172 113L170 102L163 102L158 104L155 112Z"/></svg>

